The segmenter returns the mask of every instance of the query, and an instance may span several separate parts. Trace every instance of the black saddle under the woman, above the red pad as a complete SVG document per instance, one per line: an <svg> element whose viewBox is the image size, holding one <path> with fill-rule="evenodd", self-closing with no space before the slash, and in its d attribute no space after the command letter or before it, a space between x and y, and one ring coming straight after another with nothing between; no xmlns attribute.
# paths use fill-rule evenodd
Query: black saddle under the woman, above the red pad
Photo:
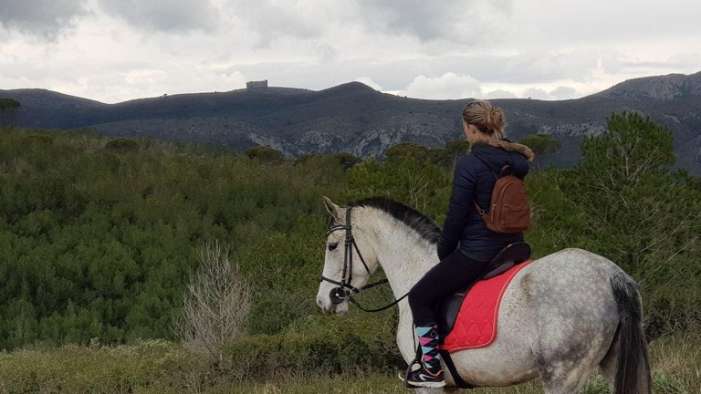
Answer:
<svg viewBox="0 0 701 394"><path fill-rule="evenodd" d="M441 344L443 344L445 336L453 329L455 317L457 317L460 306L462 306L463 300L470 288L478 281L504 274L514 265L528 260L528 257L530 257L529 244L525 242L509 244L487 264L485 275L480 276L475 282L466 283L458 291L442 299L438 303L438 306L436 306L435 313L436 323L438 325L438 337L440 338Z"/></svg>

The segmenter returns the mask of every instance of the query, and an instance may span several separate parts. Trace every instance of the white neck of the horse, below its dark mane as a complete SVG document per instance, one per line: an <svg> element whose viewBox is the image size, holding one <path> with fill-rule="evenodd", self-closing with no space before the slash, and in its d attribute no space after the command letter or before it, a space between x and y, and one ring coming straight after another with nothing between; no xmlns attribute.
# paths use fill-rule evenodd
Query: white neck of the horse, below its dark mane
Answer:
<svg viewBox="0 0 701 394"><path fill-rule="evenodd" d="M394 296L403 296L438 262L435 244L387 213L375 211L368 216L364 223L370 227L369 243Z"/></svg>

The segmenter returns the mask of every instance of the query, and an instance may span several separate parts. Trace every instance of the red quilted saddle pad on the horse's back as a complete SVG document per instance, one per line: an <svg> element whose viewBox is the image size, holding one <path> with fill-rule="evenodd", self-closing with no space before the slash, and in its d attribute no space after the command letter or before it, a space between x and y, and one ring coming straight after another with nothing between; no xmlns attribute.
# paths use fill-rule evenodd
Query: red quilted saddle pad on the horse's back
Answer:
<svg viewBox="0 0 701 394"><path fill-rule="evenodd" d="M511 279L531 260L514 265L502 275L477 282L465 296L455 319L453 330L445 337L441 349L454 353L476 347L487 347L497 337L497 316L501 297Z"/></svg>

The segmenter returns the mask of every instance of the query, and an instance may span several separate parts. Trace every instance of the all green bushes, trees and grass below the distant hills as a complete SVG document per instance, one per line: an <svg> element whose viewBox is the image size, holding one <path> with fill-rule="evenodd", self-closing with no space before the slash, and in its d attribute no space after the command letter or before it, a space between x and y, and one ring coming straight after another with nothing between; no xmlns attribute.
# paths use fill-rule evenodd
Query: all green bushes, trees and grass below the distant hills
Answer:
<svg viewBox="0 0 701 394"><path fill-rule="evenodd" d="M664 127L636 113L612 114L607 126L583 140L573 168L532 167L527 241L535 257L580 247L632 275L653 355L666 360L654 365L656 391L698 392L701 343L689 338L701 334L701 179L674 167ZM547 136L522 142L557 150ZM0 390L297 392L260 388L285 373L312 371L326 385L367 370L380 371L377 385L400 387L382 378L403 368L395 311L322 316L315 304L328 223L321 196L384 196L440 224L453 165L468 150L465 141L403 143L383 160L289 159L265 147L3 127ZM212 242L227 246L251 304L220 358L205 361L173 327L198 250ZM371 306L392 301L388 289L369 293ZM66 378L82 368L92 375ZM599 383L589 392L607 392ZM403 392L393 390L376 392Z"/></svg>

